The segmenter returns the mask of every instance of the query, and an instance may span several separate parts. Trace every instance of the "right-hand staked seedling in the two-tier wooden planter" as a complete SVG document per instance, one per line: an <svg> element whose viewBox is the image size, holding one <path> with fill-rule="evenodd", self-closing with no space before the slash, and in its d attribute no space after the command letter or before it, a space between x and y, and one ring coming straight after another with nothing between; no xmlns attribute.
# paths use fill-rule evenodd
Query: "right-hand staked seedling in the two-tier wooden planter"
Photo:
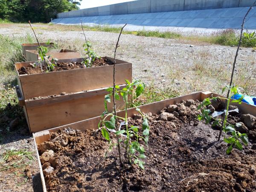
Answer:
<svg viewBox="0 0 256 192"><path fill-rule="evenodd" d="M81 26L84 33L82 20L81 20ZM89 41L87 41L85 33L84 33L84 38L85 38L85 44L83 45L83 47L84 47L84 51L86 52L85 54L88 55L88 58L84 58L83 63L85 67L93 67L93 62L95 61L95 59L96 58L99 59L100 57L96 54L95 51L93 51L93 49L91 49L92 44Z"/></svg>

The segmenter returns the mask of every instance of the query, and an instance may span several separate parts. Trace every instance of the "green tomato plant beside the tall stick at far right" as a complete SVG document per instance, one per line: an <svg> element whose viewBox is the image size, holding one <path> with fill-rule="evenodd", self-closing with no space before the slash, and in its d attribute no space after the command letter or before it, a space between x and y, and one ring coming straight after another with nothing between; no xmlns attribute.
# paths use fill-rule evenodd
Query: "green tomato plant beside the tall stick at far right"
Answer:
<svg viewBox="0 0 256 192"><path fill-rule="evenodd" d="M207 109L207 106L211 104L211 99L212 100L216 100L216 99L225 99L227 100L227 108L224 110L224 119L223 119L223 127L222 130L225 132L225 136L224 136L224 142L229 143L230 146L227 148L227 154L230 154L230 152L232 151L233 147L236 147L239 150L242 150L242 144L244 143L244 145L248 144L248 137L247 134L241 134L239 133L239 131L236 131L234 128L234 125L230 125L227 122L227 116L228 116L228 109L229 109L229 105L232 102L237 102L239 104L241 104L242 99L244 98L244 96L241 96L239 99L232 99L232 97L236 94L239 94L239 88L237 86L226 86L222 89L222 93L228 89L230 91L229 97L228 98L220 98L220 97L212 97L212 98L206 98L204 99L204 101L198 106L198 110L201 110L201 113L198 115L198 120L202 121L205 120L206 124L208 124L209 122L211 122L212 120L214 120L212 126L215 125L220 125L221 119L219 118L214 118L210 115L210 110ZM239 124L239 123L237 123ZM239 126L239 125L237 125ZM232 135L232 137L227 138L227 133L230 133Z"/></svg>

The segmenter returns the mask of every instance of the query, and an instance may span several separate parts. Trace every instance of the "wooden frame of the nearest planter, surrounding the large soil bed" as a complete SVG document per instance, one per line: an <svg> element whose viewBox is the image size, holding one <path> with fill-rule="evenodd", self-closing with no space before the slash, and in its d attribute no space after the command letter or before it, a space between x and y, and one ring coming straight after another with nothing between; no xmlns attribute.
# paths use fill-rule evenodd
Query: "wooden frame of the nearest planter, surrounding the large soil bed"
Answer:
<svg viewBox="0 0 256 192"><path fill-rule="evenodd" d="M166 99L166 100L163 100L160 102L154 102L154 103L150 103L147 105L142 105L139 108L141 109L141 111L143 111L143 113L151 112L152 114L154 114L154 113L158 113L161 109L168 107L169 105L180 103L182 100L187 100L187 99L197 100L198 99L199 101L203 101L205 98L211 96L211 94L213 94L213 96L220 96L218 94L215 94L215 93L212 93L209 91L201 91L201 92L192 93L192 94L185 95L185 96L175 97L172 99ZM242 102L241 105L239 105L238 103L232 103L232 105L238 106L239 110L243 113L250 113L250 114L256 116L256 107L253 105L249 105L244 102ZM130 108L130 109L128 109L127 115L128 115L128 117L133 117L137 113L138 113L138 111L136 111L136 108ZM124 116L125 111L119 111L119 112L117 112L117 115ZM81 131L85 131L87 129L97 129L100 119L101 119L101 116L97 116L97 117L94 117L91 119L86 119L83 121L71 123L68 125L63 125L60 127L49 129L47 131L41 131L41 132L33 134L33 138L34 138L34 142L35 142L35 150L37 153L38 164L39 164L40 175L41 175L42 186L43 186L44 192L46 192L46 185L45 185L45 180L44 180L44 175L43 175L43 170L42 170L42 166L41 166L41 161L39 158L37 145L43 143L44 141L49 140L50 133L56 132L59 129L73 128L73 129L77 129L77 130L81 130Z"/></svg>

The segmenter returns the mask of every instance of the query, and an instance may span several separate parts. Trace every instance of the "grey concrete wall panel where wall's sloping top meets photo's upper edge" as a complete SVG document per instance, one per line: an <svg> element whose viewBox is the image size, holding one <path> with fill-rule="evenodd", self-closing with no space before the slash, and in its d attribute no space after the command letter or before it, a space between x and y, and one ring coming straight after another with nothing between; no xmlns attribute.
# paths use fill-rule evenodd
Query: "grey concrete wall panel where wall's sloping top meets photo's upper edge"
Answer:
<svg viewBox="0 0 256 192"><path fill-rule="evenodd" d="M127 2L127 13L150 13L150 1L151 0L137 0Z"/></svg>

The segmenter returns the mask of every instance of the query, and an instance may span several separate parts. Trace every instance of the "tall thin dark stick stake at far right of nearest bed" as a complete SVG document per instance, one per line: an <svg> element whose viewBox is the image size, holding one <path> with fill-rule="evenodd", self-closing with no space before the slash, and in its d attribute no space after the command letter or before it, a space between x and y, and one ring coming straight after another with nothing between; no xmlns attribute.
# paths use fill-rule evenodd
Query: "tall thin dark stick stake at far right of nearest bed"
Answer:
<svg viewBox="0 0 256 192"><path fill-rule="evenodd" d="M235 71L235 67L236 67L236 58L237 58L237 55L238 55L238 52L239 52L239 48L240 48L240 45L241 45L241 41L242 41L242 35L243 35L243 30L244 30L245 18L247 17L247 15L249 14L250 10L252 9L252 7L254 6L255 3L256 3L256 1L254 1L254 3L248 9L247 13L244 16L243 23L241 25L239 44L238 44L237 49L236 49L236 56L235 56L235 59L234 59L233 69L232 69L232 74L231 74L231 79L230 79L230 88L231 88L232 83L233 83L233 76L234 76L234 71ZM229 95L230 95L230 89L227 91L227 98L229 98ZM229 102L227 102L227 101L225 102L225 108L227 108L227 103L229 103ZM222 124L221 124L221 130L220 130L220 133L219 133L219 136L218 136L218 141L220 141L222 129L224 128L224 121L226 119L225 116L227 116L227 115L224 113Z"/></svg>

